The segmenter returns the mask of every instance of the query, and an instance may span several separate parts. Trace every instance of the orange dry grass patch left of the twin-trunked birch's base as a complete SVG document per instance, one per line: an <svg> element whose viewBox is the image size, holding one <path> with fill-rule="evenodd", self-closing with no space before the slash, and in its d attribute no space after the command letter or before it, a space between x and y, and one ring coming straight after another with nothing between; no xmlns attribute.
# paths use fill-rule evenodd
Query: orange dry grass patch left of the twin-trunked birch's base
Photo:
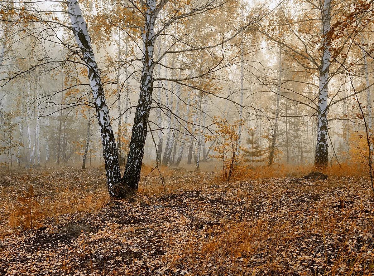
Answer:
<svg viewBox="0 0 374 276"><path fill-rule="evenodd" d="M102 172L95 169L24 169L3 177L0 226L6 231L11 230L7 226L30 228L30 220L41 227L45 219L93 212L110 201Z"/></svg>

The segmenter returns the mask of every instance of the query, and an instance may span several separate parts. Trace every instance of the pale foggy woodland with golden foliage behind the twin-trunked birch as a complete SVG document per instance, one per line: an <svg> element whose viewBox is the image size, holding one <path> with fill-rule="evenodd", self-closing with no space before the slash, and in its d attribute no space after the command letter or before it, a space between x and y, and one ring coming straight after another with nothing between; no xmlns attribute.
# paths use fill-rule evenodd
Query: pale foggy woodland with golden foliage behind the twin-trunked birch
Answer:
<svg viewBox="0 0 374 276"><path fill-rule="evenodd" d="M207 163L214 170L233 154L241 166L363 158L373 101L372 15L364 4L325 10L308 1L157 2L145 23L139 5L80 3L120 166L144 104L146 70L151 102L140 114L149 112L138 151L147 166L199 170ZM104 166L111 157L102 148L92 64L74 38L67 6L1 7L4 169L81 167L83 159Z"/></svg>

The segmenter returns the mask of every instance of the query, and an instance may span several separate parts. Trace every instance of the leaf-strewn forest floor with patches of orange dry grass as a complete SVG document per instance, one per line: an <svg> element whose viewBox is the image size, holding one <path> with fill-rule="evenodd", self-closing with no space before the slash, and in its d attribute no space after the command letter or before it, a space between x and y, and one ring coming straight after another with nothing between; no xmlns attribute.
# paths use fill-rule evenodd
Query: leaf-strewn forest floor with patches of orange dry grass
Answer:
<svg viewBox="0 0 374 276"><path fill-rule="evenodd" d="M223 183L170 170L110 201L102 169L37 168L2 176L0 192L0 275L374 271L374 198L362 178Z"/></svg>

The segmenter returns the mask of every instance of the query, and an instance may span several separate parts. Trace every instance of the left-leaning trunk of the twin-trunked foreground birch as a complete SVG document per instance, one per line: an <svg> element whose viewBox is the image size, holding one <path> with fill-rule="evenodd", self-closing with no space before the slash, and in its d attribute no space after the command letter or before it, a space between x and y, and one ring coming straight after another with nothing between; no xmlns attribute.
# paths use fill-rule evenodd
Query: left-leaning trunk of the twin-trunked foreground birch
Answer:
<svg viewBox="0 0 374 276"><path fill-rule="evenodd" d="M82 57L88 68L89 83L92 89L92 96L95 103L99 131L101 134L108 191L111 197L122 198L125 196L125 192L122 187L118 187L118 184L121 181L121 175L117 157L116 140L114 139L114 133L110 124L109 110L105 102L104 89L102 87L95 55L93 54L91 38L78 1L67 0L67 4L74 37L82 51Z"/></svg>

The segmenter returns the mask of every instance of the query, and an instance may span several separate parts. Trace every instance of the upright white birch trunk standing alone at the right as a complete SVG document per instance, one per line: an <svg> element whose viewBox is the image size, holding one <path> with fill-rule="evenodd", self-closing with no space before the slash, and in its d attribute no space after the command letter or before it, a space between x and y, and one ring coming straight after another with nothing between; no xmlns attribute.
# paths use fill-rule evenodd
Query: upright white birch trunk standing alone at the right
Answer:
<svg viewBox="0 0 374 276"><path fill-rule="evenodd" d="M327 128L327 100L328 100L328 79L331 64L330 42L328 33L330 31L331 0L324 0L322 7L322 51L323 56L319 75L319 100L318 100L318 125L317 144L314 164L316 167L326 167L328 163L328 128Z"/></svg>

